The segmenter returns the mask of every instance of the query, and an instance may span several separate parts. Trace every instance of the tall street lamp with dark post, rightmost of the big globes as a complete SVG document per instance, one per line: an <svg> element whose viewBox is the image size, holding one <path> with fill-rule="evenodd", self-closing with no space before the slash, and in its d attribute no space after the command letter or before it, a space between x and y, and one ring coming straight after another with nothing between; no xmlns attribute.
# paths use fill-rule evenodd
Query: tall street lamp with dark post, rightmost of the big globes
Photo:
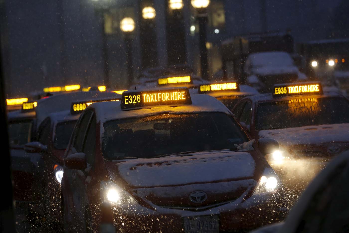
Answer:
<svg viewBox="0 0 349 233"><path fill-rule="evenodd" d="M196 19L199 22L199 39L200 39L200 61L201 61L201 76L203 79L208 79L208 56L207 56L207 35L206 24L208 21L206 8L210 4L210 0L191 0L192 6L197 10Z"/></svg>

